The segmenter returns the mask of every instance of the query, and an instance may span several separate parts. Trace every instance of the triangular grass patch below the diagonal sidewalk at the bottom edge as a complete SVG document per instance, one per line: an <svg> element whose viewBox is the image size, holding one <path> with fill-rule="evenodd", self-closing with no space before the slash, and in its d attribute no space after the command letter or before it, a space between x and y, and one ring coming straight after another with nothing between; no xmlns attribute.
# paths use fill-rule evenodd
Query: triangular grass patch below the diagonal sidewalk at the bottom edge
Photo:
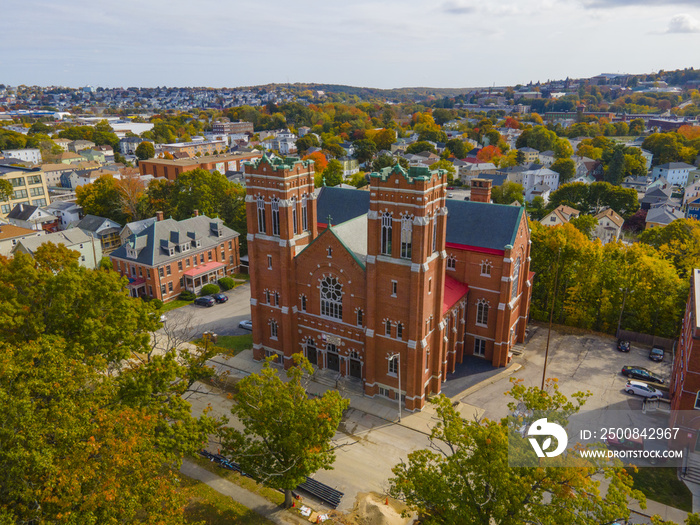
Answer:
<svg viewBox="0 0 700 525"><path fill-rule="evenodd" d="M206 525L267 525L271 521L200 481L182 476L183 492L189 500L185 507L187 523Z"/></svg>

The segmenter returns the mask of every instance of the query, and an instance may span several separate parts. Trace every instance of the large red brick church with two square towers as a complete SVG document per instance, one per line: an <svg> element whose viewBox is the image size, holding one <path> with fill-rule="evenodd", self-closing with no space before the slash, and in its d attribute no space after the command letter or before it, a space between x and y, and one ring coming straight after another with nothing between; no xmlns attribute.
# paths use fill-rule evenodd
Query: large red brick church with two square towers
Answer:
<svg viewBox="0 0 700 525"><path fill-rule="evenodd" d="M508 364L530 305L522 207L445 198L444 171L395 165L369 191L314 191L310 161L245 166L254 356L303 354L369 396L422 408L477 356ZM400 356L400 358L397 358ZM400 370L399 370L400 363ZM465 365L466 366L466 365Z"/></svg>

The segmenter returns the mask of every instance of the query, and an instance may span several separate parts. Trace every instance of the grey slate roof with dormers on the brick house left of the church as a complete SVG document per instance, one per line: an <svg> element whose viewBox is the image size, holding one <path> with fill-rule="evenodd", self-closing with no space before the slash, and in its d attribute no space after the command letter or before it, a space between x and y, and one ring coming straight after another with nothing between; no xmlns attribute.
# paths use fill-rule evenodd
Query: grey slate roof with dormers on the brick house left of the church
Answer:
<svg viewBox="0 0 700 525"><path fill-rule="evenodd" d="M223 229L221 237L212 230L212 225L221 226ZM183 221L165 219L154 222L138 235L131 235L127 243L114 250L110 257L147 266L158 266L168 261L178 261L190 253L215 248L222 241L236 237L238 237L238 232L224 226L221 219L210 219L206 215L192 217ZM196 248L196 244L192 244L191 252L181 253L178 251L180 244L195 243L197 240L201 241L199 248ZM126 256L127 245L136 249L136 259ZM164 249L171 246L175 248L175 254L172 256L169 251Z"/></svg>

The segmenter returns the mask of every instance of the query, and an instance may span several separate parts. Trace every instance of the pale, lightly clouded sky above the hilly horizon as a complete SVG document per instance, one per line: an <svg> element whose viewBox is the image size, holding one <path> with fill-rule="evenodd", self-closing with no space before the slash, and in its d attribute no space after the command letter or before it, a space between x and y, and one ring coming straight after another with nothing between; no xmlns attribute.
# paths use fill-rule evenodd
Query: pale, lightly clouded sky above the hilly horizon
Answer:
<svg viewBox="0 0 700 525"><path fill-rule="evenodd" d="M484 87L700 67L698 0L3 0L0 83Z"/></svg>

